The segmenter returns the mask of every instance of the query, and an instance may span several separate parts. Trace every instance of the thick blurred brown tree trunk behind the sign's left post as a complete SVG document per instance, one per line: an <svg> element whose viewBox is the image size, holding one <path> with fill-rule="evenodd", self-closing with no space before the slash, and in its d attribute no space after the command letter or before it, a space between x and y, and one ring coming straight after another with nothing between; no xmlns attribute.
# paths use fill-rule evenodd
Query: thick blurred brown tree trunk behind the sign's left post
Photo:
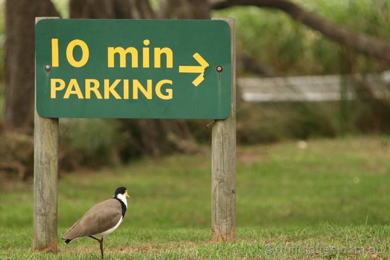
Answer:
<svg viewBox="0 0 390 260"><path fill-rule="evenodd" d="M6 124L32 134L35 17L59 16L50 0L6 1Z"/></svg>

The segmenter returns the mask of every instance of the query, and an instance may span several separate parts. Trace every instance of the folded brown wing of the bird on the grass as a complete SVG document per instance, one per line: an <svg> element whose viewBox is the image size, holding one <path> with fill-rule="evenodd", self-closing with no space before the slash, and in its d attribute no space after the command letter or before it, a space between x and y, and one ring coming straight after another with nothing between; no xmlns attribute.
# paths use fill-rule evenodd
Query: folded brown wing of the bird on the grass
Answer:
<svg viewBox="0 0 390 260"><path fill-rule="evenodd" d="M65 232L62 239L92 236L114 227L122 217L121 203L109 199L95 205Z"/></svg>

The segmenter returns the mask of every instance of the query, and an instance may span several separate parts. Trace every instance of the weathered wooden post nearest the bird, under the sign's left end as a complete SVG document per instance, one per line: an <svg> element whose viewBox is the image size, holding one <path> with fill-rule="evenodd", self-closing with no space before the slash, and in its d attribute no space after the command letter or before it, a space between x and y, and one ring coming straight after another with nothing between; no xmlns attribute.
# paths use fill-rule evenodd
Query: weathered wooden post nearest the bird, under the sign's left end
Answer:
<svg viewBox="0 0 390 260"><path fill-rule="evenodd" d="M43 19L36 17L35 24ZM48 50L50 51L50 50ZM50 64L51 65L51 64ZM45 68L42 68L44 70ZM35 82L35 89L37 88ZM34 107L34 250L57 251L58 118L40 117Z"/></svg>

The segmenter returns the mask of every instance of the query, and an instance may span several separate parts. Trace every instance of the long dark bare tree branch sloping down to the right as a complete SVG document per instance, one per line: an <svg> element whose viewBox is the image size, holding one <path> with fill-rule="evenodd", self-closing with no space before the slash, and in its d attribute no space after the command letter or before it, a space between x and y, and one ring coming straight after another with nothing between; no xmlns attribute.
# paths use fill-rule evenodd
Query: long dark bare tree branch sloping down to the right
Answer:
<svg viewBox="0 0 390 260"><path fill-rule="evenodd" d="M353 32L314 12L309 12L289 0L225 0L213 3L211 8L218 10L232 6L256 6L281 10L295 21L319 31L341 45L390 63L390 44L363 33Z"/></svg>

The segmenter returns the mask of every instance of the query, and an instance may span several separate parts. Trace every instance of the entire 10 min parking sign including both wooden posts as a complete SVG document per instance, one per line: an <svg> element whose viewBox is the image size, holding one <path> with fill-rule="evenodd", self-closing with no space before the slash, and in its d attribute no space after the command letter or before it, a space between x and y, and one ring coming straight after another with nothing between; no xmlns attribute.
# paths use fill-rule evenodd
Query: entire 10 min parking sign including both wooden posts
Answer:
<svg viewBox="0 0 390 260"><path fill-rule="evenodd" d="M212 237L235 239L235 20L57 19L35 21L34 249L57 250L60 117L214 119Z"/></svg>

